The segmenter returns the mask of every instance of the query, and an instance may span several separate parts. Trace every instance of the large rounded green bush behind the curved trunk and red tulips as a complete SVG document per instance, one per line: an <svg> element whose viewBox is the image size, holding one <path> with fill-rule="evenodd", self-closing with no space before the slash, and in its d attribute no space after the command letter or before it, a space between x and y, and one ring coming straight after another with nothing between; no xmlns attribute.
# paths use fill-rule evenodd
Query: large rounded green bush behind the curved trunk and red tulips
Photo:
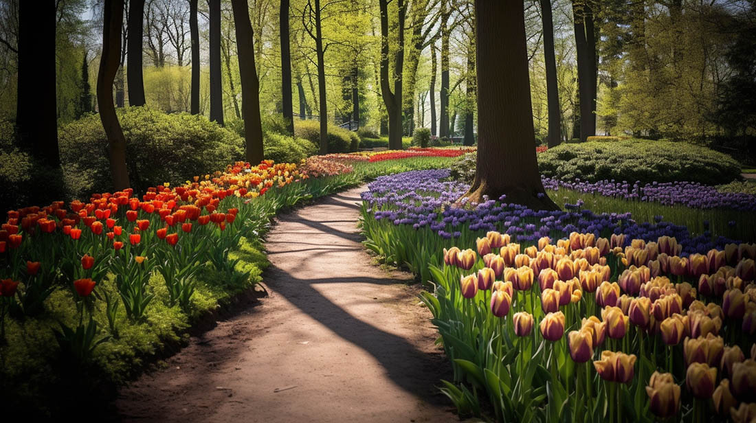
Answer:
<svg viewBox="0 0 756 423"><path fill-rule="evenodd" d="M118 110L126 138L126 165L135 190L224 168L242 159L244 143L233 131L205 116L166 114L148 107ZM74 196L112 190L107 137L97 115L71 122L58 131L60 159L67 181L76 178Z"/></svg>

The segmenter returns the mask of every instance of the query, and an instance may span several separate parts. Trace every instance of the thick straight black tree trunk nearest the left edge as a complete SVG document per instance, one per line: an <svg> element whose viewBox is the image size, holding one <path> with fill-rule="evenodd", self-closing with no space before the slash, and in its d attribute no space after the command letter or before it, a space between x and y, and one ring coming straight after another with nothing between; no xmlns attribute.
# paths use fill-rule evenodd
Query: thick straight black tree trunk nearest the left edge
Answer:
<svg viewBox="0 0 756 423"><path fill-rule="evenodd" d="M20 145L40 164L57 168L55 6L18 2L16 125ZM117 59L117 57L116 57Z"/></svg>

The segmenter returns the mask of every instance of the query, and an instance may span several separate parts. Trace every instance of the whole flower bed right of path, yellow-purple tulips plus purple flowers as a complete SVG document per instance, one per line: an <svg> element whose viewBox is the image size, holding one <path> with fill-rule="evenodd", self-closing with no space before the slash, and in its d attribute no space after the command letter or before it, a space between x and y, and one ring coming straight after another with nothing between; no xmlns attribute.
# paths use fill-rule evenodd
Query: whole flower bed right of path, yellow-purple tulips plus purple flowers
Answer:
<svg viewBox="0 0 756 423"><path fill-rule="evenodd" d="M370 249L434 282L423 301L454 368L442 391L460 414L754 417L756 245L575 207L442 211L466 190L446 175L378 178L362 225Z"/></svg>

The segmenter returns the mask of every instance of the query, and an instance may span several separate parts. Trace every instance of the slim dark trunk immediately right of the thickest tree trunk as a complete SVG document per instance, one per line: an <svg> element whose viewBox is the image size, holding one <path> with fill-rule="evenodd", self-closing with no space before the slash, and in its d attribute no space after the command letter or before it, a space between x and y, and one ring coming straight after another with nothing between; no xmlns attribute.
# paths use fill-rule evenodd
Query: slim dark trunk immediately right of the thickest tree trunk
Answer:
<svg viewBox="0 0 756 423"><path fill-rule="evenodd" d="M541 0L541 19L544 26L544 61L546 62L546 98L549 109L549 148L559 145L562 118L559 116L559 86L556 84L556 59L554 58L554 26L551 19L551 0Z"/></svg>

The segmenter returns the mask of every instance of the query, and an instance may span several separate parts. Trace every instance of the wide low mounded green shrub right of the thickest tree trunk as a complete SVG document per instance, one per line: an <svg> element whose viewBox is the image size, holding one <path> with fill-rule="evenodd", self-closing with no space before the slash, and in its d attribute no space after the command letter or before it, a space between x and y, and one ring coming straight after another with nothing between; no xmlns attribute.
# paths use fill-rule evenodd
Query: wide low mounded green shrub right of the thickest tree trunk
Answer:
<svg viewBox="0 0 756 423"><path fill-rule="evenodd" d="M721 184L739 178L729 156L686 143L619 140L562 144L538 155L541 174L562 181L673 182Z"/></svg>

